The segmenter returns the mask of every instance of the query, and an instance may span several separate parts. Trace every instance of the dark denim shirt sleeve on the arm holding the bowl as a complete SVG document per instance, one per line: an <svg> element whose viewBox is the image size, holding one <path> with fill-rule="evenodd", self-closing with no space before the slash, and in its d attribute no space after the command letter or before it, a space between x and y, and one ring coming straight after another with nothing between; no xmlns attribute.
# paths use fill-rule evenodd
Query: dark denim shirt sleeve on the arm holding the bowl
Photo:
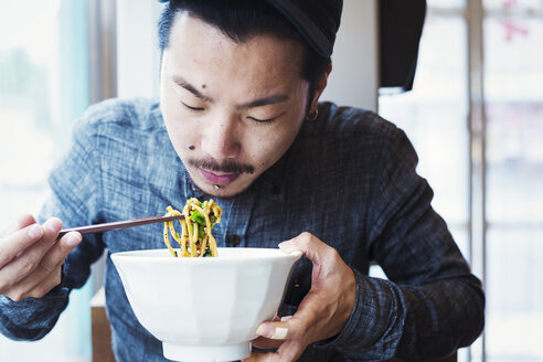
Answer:
<svg viewBox="0 0 543 362"><path fill-rule="evenodd" d="M354 270L355 306L331 341L354 360L443 358L469 345L485 323L481 283L433 210L411 142L394 134L369 204L370 256L388 279Z"/></svg>

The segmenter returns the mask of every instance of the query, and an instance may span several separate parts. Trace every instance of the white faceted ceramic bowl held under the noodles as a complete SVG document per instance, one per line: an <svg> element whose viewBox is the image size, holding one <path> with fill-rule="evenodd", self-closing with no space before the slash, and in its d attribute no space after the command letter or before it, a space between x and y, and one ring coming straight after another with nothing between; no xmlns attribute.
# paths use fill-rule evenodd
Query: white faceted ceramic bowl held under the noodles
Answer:
<svg viewBox="0 0 543 362"><path fill-rule="evenodd" d="M174 361L233 361L251 354L257 326L274 318L301 256L272 248L219 248L174 258L168 249L115 253L130 306Z"/></svg>

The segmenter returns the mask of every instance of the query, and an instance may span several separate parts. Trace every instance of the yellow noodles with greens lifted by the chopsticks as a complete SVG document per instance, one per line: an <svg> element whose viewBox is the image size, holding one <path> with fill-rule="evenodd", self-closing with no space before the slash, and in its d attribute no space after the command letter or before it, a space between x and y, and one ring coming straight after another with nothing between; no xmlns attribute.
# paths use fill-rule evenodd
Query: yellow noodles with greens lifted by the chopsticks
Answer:
<svg viewBox="0 0 543 362"><path fill-rule="evenodd" d="M179 221L181 236L175 232L173 221L164 223L164 244L174 257L217 256L216 241L211 230L221 222L223 213L221 206L213 200L200 202L191 198L187 201L182 213L172 206L168 206L167 210L167 216L184 215L184 219ZM181 246L179 254L171 247L169 234Z"/></svg>

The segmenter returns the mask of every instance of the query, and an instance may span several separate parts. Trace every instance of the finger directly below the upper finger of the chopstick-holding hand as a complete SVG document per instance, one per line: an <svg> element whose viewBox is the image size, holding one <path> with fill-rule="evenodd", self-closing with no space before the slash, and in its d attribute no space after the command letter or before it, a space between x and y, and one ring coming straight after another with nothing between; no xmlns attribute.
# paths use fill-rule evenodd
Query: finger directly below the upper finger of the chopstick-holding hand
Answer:
<svg viewBox="0 0 543 362"><path fill-rule="evenodd" d="M29 227L32 228L35 226L32 225ZM0 269L0 290L11 288L39 266L45 253L54 244L61 228L62 222L56 217L52 217L43 224L43 227L41 227L43 232L42 237L21 251L22 253L18 253L18 256L13 260Z"/></svg>

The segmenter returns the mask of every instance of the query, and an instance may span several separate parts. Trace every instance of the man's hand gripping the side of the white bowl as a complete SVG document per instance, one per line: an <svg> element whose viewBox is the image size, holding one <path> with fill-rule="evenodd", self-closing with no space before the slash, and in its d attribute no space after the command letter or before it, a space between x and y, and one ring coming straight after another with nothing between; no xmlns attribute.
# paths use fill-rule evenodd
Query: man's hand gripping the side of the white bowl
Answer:
<svg viewBox="0 0 543 362"><path fill-rule="evenodd" d="M275 353L256 353L244 362L296 361L307 345L339 334L354 307L354 274L338 252L309 233L279 244L289 253L300 251L313 264L311 289L294 316L258 326L253 344L277 348Z"/></svg>

